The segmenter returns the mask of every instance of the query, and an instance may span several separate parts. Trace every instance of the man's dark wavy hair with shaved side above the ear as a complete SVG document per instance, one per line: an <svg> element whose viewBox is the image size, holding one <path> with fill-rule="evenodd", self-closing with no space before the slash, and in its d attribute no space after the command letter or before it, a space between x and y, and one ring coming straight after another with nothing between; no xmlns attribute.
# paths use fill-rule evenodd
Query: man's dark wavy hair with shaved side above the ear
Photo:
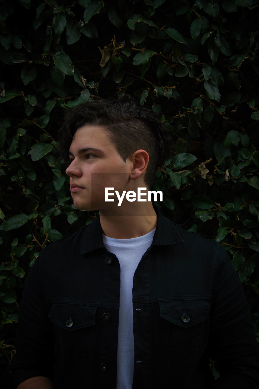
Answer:
<svg viewBox="0 0 259 389"><path fill-rule="evenodd" d="M130 96L121 100L84 102L70 109L58 136L65 160L76 130L85 125L103 126L124 162L136 150L145 150L150 159L144 182L149 188L157 168L172 155L169 131L155 112L140 107Z"/></svg>

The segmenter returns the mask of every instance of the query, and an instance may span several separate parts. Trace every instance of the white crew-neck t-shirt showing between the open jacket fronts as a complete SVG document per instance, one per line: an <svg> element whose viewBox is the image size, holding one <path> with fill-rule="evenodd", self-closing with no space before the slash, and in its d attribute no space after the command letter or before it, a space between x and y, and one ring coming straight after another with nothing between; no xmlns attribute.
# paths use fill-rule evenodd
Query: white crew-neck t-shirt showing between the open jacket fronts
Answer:
<svg viewBox="0 0 259 389"><path fill-rule="evenodd" d="M155 230L141 237L115 239L102 235L105 247L120 262L120 310L116 389L131 389L134 373L133 276L144 252L152 244Z"/></svg>

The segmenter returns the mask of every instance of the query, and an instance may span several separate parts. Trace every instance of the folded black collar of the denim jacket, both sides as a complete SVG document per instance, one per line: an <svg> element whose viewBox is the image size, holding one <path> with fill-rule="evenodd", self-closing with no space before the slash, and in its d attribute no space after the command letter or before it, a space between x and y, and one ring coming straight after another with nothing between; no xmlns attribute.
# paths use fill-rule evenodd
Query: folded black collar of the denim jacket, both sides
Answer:
<svg viewBox="0 0 259 389"><path fill-rule="evenodd" d="M157 213L157 228L153 237L152 246L183 243L183 238L179 235L174 223L167 219L156 205L153 205L153 207ZM81 254L101 248L106 249L102 241L102 227L100 217L98 216L86 230L85 238L81 246Z"/></svg>

